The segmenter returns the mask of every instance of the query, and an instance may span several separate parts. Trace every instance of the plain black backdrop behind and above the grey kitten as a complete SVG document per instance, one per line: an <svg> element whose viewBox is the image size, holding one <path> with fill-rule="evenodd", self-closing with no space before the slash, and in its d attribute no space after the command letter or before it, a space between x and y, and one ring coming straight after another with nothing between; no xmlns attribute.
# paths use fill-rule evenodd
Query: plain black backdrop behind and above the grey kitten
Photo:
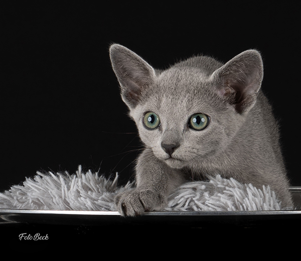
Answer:
<svg viewBox="0 0 301 261"><path fill-rule="evenodd" d="M280 119L288 175L301 185L297 5L164 3L2 8L0 191L36 171L74 173L78 165L128 179L141 147L111 69L111 43L159 68L200 53L226 62L259 50L262 88Z"/></svg>

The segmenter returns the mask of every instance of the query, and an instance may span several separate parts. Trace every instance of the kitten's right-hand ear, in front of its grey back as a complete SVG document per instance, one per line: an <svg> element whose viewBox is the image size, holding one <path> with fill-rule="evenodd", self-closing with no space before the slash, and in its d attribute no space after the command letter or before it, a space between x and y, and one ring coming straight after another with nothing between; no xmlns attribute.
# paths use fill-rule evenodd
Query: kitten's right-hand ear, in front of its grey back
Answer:
<svg viewBox="0 0 301 261"><path fill-rule="evenodd" d="M262 59L256 50L235 56L217 69L213 75L219 95L233 104L238 113L251 109L263 78Z"/></svg>

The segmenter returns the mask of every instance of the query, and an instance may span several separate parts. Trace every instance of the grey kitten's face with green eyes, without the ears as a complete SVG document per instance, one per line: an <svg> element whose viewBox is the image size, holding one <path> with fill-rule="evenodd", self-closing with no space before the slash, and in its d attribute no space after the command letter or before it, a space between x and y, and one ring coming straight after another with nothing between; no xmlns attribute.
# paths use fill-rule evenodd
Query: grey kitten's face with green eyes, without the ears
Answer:
<svg viewBox="0 0 301 261"><path fill-rule="evenodd" d="M141 141L172 168L221 153L239 126L232 106L213 92L210 77L172 69L156 77L130 110Z"/></svg>

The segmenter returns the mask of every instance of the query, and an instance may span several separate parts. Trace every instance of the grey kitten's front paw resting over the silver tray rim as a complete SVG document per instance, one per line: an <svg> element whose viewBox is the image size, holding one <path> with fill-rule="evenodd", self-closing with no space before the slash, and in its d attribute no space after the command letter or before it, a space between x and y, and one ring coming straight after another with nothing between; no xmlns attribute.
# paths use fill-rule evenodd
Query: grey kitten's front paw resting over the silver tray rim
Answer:
<svg viewBox="0 0 301 261"><path fill-rule="evenodd" d="M122 216L138 216L145 211L162 210L167 199L152 190L129 190L115 197L115 205Z"/></svg>

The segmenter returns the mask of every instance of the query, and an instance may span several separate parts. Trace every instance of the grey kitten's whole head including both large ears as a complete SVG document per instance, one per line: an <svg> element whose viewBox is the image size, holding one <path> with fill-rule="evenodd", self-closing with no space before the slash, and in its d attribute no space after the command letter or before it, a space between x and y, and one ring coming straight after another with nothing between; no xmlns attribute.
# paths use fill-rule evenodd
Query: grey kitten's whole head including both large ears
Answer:
<svg viewBox="0 0 301 261"><path fill-rule="evenodd" d="M110 58L141 141L173 168L227 147L254 106L263 77L255 50L224 65L198 56L164 71L117 44Z"/></svg>

